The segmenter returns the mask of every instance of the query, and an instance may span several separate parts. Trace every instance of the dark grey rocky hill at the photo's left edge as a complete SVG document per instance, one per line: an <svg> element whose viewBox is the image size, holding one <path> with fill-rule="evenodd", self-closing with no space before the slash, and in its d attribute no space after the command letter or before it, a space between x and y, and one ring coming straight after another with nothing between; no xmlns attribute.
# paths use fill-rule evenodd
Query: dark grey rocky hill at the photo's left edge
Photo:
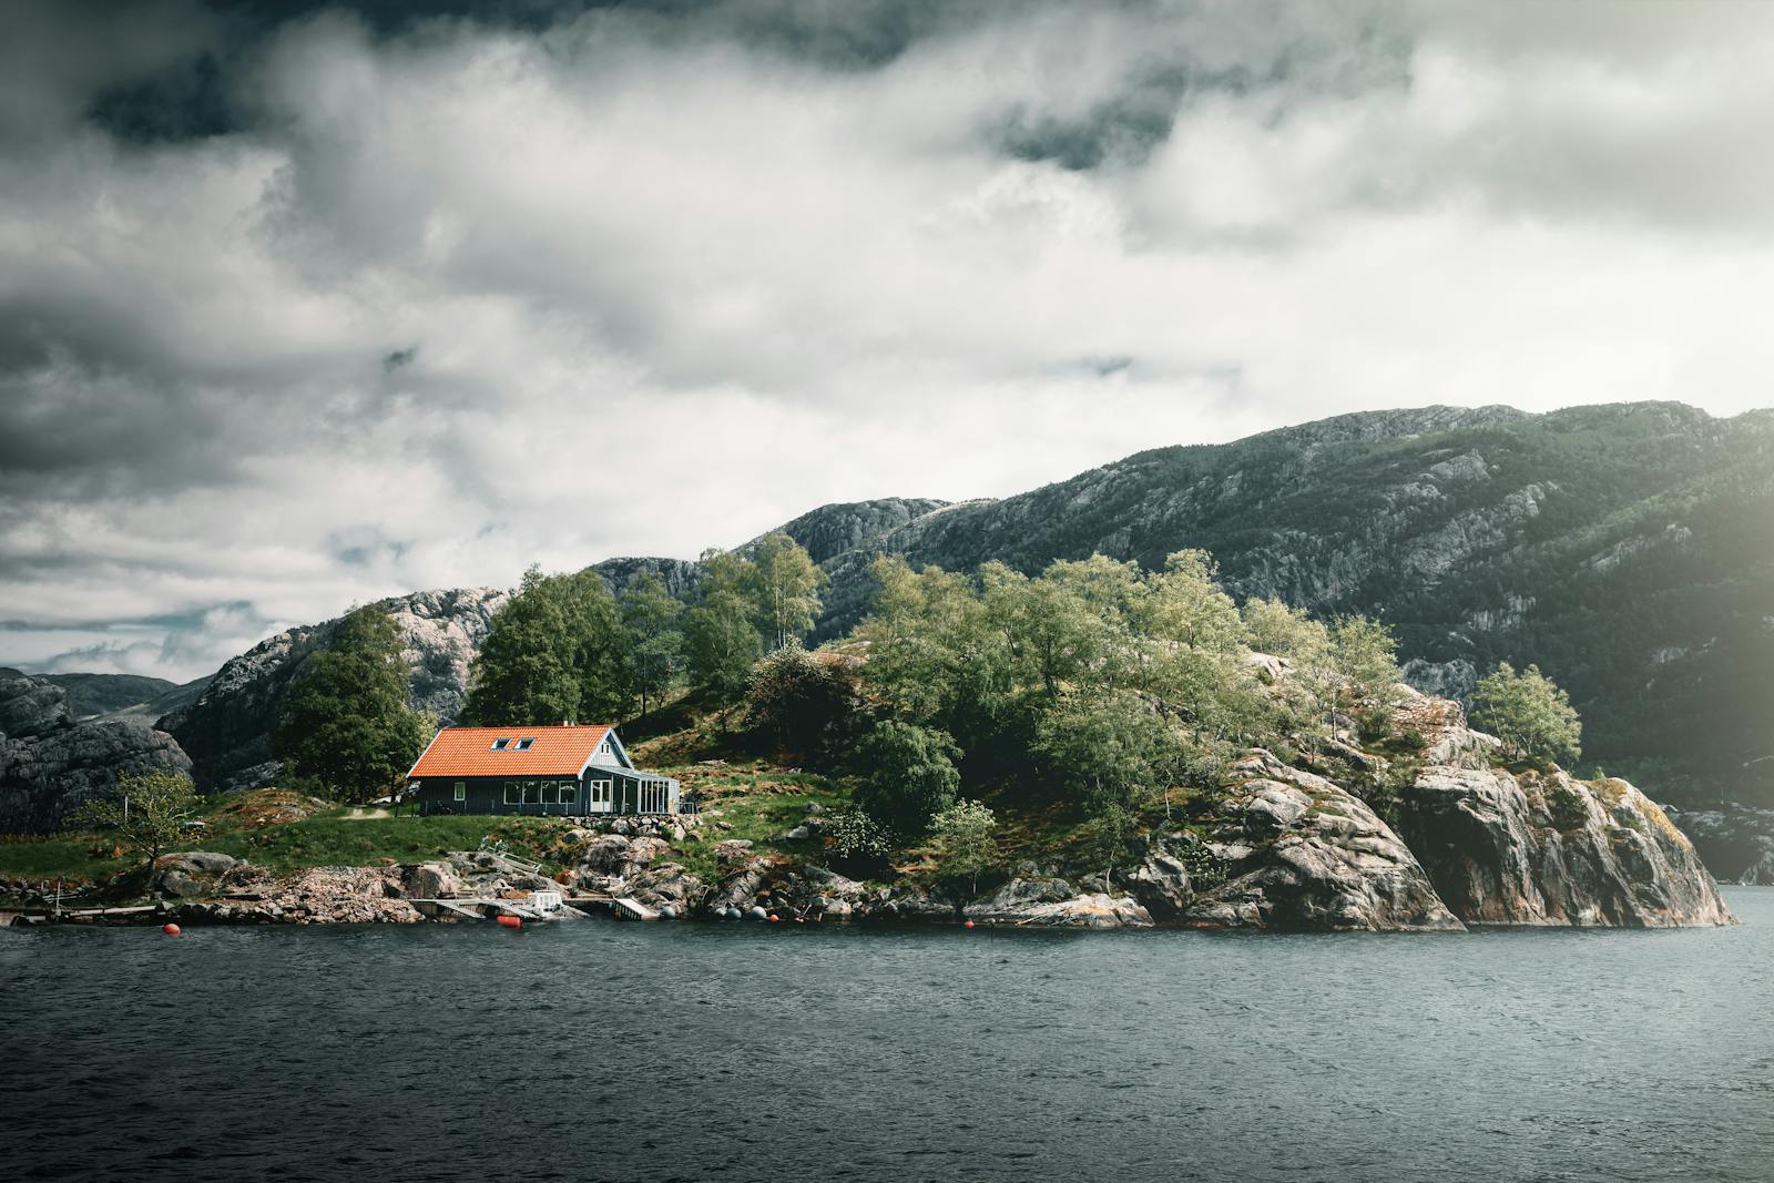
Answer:
<svg viewBox="0 0 1774 1183"><path fill-rule="evenodd" d="M190 772L177 741L135 722L76 724L60 686L0 670L0 834L60 827L80 802L137 772Z"/></svg>

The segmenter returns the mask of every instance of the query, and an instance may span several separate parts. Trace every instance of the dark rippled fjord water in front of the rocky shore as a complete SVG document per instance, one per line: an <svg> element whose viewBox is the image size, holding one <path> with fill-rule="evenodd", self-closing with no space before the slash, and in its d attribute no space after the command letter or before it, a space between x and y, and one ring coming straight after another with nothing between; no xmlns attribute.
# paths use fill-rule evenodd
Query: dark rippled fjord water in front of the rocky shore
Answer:
<svg viewBox="0 0 1774 1183"><path fill-rule="evenodd" d="M11 1179L1774 1178L1742 924L0 933Z"/></svg>

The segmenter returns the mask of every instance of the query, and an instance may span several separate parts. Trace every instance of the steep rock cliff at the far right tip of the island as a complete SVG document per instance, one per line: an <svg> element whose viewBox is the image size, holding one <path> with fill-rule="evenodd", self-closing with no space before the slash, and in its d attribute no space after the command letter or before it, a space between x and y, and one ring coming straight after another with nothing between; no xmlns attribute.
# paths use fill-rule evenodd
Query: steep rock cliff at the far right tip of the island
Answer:
<svg viewBox="0 0 1774 1183"><path fill-rule="evenodd" d="M1730 924L1692 842L1625 780L1428 766L1401 828L1469 924Z"/></svg>

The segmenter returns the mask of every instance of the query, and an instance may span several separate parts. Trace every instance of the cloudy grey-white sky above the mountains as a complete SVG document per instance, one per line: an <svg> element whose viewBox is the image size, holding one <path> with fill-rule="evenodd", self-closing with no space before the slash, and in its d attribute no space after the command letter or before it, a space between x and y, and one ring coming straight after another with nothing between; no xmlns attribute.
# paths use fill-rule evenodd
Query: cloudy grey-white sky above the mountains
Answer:
<svg viewBox="0 0 1774 1183"><path fill-rule="evenodd" d="M1769 404L1774 5L0 7L0 663L1426 403Z"/></svg>

